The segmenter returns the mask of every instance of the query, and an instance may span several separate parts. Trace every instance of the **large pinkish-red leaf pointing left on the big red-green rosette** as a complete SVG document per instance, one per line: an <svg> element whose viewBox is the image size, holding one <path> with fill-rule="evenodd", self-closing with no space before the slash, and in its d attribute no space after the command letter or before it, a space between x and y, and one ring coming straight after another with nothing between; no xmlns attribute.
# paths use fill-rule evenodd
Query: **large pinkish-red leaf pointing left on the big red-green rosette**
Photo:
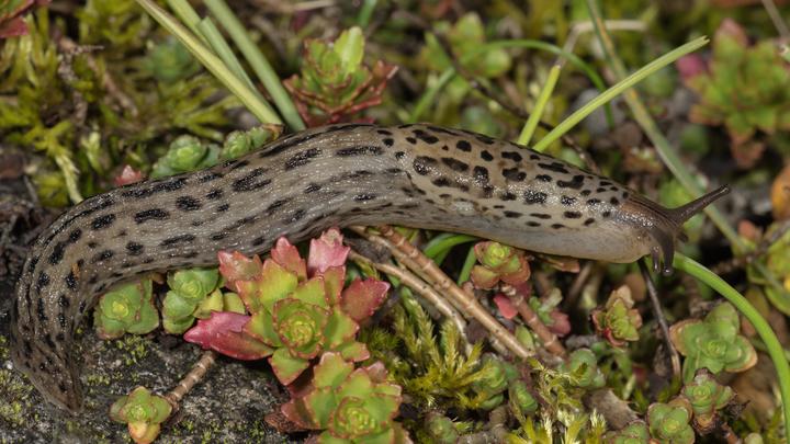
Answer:
<svg viewBox="0 0 790 444"><path fill-rule="evenodd" d="M272 354L272 349L245 332L250 317L232 311L213 311L208 319L199 319L183 338L205 350L242 361L260 360Z"/></svg>

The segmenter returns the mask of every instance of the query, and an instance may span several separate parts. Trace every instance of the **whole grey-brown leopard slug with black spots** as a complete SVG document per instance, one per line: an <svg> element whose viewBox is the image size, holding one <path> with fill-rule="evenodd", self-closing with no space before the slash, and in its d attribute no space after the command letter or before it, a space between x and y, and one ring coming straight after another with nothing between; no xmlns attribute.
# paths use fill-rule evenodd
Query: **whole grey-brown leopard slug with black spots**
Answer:
<svg viewBox="0 0 790 444"><path fill-rule="evenodd" d="M331 226L465 232L531 251L672 264L675 209L546 155L431 125L309 129L216 167L123 186L76 205L33 246L12 309L12 355L44 397L79 411L75 330L98 295L155 270L267 251Z"/></svg>

